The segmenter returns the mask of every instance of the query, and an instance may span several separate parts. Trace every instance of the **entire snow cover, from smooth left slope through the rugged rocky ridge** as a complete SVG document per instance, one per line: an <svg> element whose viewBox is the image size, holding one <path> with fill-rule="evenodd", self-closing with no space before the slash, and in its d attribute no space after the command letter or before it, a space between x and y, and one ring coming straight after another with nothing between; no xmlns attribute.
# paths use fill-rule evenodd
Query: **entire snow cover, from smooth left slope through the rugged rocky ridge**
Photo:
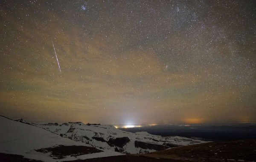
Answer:
<svg viewBox="0 0 256 162"><path fill-rule="evenodd" d="M38 159L43 154L36 152L36 149L57 145L84 145L95 147L99 150L104 149L104 153L77 156L77 158L81 159L91 156L106 156L108 154L119 155L119 153L114 152L115 149L118 149L121 153L148 153L156 151L154 149L169 148L168 145L183 146L206 142L180 136L162 137L147 132L125 132L116 129L113 125L84 124L81 122L63 124L29 123L23 119L19 119L16 122L3 117L0 118L0 122L3 125L0 131L4 132L0 136L0 138L2 137L0 139L0 152L19 154L27 158L33 155L33 159ZM9 136L10 134L12 136ZM141 143L135 145L136 141ZM24 148L24 145L27 148ZM106 150L108 151L106 152ZM43 154L42 156L45 155ZM47 156L49 157L49 155ZM66 159L74 158L73 156L66 157Z"/></svg>

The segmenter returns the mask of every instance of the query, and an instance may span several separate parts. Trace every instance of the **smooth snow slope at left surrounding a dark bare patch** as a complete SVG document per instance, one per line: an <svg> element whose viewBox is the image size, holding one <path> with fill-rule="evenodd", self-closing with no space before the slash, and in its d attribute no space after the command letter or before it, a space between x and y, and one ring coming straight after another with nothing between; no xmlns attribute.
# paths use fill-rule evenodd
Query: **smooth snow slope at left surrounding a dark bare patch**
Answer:
<svg viewBox="0 0 256 162"><path fill-rule="evenodd" d="M46 151L46 148L52 149L60 146L62 148L65 146L82 146L82 148L86 147L88 150L93 150L95 153L84 153L86 155L80 153L77 157L66 153L62 158L58 158ZM38 150L40 149L43 151L39 152ZM29 125L28 123L16 122L3 116L0 116L0 153L17 154L28 159L37 159L46 162L63 161L67 159L75 160L76 158L87 159L120 154L111 150L98 150L84 142L76 142L71 139L63 138L58 134L39 127Z"/></svg>

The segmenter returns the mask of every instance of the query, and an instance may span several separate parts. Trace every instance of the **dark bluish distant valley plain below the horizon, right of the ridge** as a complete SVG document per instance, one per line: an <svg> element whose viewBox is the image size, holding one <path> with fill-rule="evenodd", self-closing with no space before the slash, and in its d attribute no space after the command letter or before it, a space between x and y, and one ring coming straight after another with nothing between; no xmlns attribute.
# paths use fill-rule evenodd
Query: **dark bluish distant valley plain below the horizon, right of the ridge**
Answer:
<svg viewBox="0 0 256 162"><path fill-rule="evenodd" d="M120 127L128 132L145 131L159 136L183 136L210 141L255 139L256 124L252 123L206 123Z"/></svg>

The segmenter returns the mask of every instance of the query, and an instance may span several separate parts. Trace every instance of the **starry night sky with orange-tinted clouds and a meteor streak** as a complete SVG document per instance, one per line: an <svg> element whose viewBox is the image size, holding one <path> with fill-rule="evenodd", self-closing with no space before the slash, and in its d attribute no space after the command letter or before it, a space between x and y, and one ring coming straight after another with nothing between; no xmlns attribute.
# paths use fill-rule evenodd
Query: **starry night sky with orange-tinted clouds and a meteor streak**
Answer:
<svg viewBox="0 0 256 162"><path fill-rule="evenodd" d="M1 0L0 114L30 122L255 122L255 6Z"/></svg>

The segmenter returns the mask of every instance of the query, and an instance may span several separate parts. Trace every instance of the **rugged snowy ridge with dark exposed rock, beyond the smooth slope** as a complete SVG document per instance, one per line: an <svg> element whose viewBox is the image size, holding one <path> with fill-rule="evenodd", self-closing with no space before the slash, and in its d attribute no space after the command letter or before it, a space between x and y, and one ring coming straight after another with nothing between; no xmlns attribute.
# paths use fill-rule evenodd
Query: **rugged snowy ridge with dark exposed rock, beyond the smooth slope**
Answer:
<svg viewBox="0 0 256 162"><path fill-rule="evenodd" d="M28 124L28 122L26 123ZM130 133L116 129L113 125L83 124L81 122L30 124L57 133L62 137L85 142L93 147L120 153L148 153L177 146L205 143L205 141L179 136L162 137L147 132Z"/></svg>

